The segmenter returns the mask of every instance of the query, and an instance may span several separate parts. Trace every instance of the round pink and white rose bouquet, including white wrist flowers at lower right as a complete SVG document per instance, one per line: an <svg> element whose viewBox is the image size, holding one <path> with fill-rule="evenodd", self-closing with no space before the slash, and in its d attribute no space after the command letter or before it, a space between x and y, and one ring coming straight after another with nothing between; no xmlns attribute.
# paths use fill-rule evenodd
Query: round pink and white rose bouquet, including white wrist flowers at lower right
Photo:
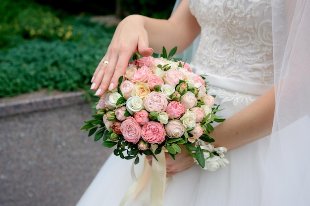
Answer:
<svg viewBox="0 0 310 206"><path fill-rule="evenodd" d="M214 148L209 135L219 105L207 94L205 77L192 72L189 64L173 58L163 47L160 57L134 54L118 87L107 91L96 104L96 115L81 129L103 138L102 145L115 147L114 155L123 159L168 152L172 158L184 145L202 168L225 166L226 148ZM155 157L156 159L156 157ZM156 159L157 160L157 159ZM206 165L207 164L207 165Z"/></svg>

